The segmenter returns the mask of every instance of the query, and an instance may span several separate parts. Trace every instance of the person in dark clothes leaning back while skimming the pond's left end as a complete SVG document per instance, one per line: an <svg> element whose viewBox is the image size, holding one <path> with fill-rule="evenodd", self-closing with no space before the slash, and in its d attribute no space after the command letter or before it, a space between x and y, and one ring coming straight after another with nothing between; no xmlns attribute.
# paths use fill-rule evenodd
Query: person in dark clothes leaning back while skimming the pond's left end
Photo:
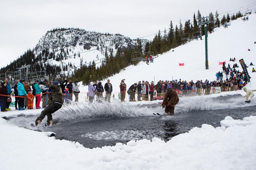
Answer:
<svg viewBox="0 0 256 170"><path fill-rule="evenodd" d="M59 110L63 104L62 89L58 85L59 83L57 81L52 82L52 84L48 84L46 82L45 83L40 82L40 84L41 83L45 86L48 86L50 89L52 89L52 99L51 99L51 103L43 109L40 116L37 117L37 119L35 120L35 126L38 126L46 115L47 115L47 125L52 125L53 123L52 114L55 113L57 110Z"/></svg>

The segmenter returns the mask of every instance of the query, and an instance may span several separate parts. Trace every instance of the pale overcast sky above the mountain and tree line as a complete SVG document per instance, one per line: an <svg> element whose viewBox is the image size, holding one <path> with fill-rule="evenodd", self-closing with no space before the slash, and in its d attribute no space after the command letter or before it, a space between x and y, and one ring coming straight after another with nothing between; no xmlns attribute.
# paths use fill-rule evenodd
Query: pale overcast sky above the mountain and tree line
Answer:
<svg viewBox="0 0 256 170"><path fill-rule="evenodd" d="M0 67L34 48L53 28L78 27L138 38L168 29L171 20L177 24L181 19L184 24L197 10L205 16L248 4L256 8L256 0L0 0Z"/></svg>

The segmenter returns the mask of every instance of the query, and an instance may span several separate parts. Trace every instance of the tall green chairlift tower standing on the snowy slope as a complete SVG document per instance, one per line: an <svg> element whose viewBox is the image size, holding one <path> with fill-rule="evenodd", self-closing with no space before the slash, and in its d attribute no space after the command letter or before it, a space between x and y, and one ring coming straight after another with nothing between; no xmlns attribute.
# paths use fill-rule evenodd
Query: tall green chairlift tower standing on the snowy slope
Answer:
<svg viewBox="0 0 256 170"><path fill-rule="evenodd" d="M204 35L205 35L205 69L209 69L208 65L208 28L207 24L212 23L210 17L203 17L198 19L198 26L204 25Z"/></svg>

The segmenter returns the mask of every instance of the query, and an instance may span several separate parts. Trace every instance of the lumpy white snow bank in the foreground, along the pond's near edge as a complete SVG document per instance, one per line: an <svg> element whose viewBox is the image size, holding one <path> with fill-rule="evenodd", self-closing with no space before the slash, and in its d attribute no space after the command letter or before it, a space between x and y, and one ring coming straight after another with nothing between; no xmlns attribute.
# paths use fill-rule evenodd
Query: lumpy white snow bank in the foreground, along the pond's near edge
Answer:
<svg viewBox="0 0 256 170"><path fill-rule="evenodd" d="M168 142L153 138L88 149L0 119L0 165L2 170L255 169L256 116L226 117L221 124L203 124Z"/></svg>

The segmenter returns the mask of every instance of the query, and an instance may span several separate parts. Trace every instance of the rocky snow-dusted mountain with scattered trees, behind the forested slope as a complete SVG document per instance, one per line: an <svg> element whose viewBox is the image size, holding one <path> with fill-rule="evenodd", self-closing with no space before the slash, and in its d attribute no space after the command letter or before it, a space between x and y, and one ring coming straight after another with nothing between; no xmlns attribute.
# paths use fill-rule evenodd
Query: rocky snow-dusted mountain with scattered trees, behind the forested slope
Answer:
<svg viewBox="0 0 256 170"><path fill-rule="evenodd" d="M140 40L144 46L147 40ZM120 34L96 33L74 28L53 29L40 38L33 50L25 52L0 71L16 71L32 62L31 71L46 70L47 75L56 72L67 75L79 66L96 60L98 67L106 53L115 55L118 49L122 52L137 44L137 39Z"/></svg>

